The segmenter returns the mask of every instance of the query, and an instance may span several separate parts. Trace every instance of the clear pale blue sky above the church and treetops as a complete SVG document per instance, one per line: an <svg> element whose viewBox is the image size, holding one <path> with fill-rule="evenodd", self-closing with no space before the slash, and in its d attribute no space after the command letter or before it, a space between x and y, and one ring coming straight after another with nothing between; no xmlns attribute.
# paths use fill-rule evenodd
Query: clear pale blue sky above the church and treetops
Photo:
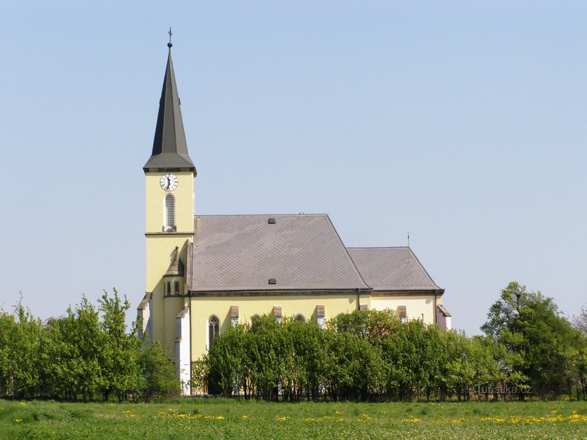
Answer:
<svg viewBox="0 0 587 440"><path fill-rule="evenodd" d="M517 280L587 303L582 2L2 2L0 304L144 295L173 27L198 214L410 245L454 326Z"/></svg>

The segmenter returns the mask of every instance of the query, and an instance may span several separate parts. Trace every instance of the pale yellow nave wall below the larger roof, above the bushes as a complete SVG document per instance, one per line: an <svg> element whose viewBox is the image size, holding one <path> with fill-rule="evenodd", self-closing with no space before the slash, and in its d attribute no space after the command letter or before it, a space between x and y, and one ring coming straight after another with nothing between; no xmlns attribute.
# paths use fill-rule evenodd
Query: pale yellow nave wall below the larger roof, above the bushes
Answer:
<svg viewBox="0 0 587 440"><path fill-rule="evenodd" d="M361 295L367 304L369 295ZM316 320L316 306L324 304L326 320L357 309L357 295L275 295L275 296L193 296L191 297L191 356L196 361L207 351L208 319L220 320L220 333L231 326L231 306L238 306L239 321L247 322L254 314L273 314L275 305L282 306L282 316L302 314Z"/></svg>

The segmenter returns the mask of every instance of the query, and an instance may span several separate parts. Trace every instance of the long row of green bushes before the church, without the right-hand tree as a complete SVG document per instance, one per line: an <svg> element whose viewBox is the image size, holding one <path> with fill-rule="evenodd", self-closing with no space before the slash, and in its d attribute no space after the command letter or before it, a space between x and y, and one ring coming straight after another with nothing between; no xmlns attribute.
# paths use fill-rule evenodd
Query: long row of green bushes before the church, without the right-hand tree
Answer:
<svg viewBox="0 0 587 440"><path fill-rule="evenodd" d="M390 310L340 315L325 329L265 315L218 336L193 386L268 401L468 399L475 381L501 378L498 354L488 339L402 324Z"/></svg>

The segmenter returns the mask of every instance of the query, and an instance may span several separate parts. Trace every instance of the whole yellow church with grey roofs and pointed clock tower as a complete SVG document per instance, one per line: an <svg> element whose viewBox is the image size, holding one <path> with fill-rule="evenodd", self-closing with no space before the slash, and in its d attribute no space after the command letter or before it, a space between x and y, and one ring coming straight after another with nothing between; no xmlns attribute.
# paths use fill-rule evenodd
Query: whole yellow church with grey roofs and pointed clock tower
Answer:
<svg viewBox="0 0 587 440"><path fill-rule="evenodd" d="M450 329L438 287L409 247L346 248L327 214L198 215L171 42L146 181L142 331L191 364L237 322L270 314L325 321L390 309L400 320Z"/></svg>

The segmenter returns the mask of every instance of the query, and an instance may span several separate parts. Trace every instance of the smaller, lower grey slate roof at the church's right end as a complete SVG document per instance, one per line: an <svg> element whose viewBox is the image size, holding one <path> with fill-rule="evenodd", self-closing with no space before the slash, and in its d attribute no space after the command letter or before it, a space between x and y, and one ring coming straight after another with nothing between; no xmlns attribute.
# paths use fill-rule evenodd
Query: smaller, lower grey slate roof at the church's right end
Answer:
<svg viewBox="0 0 587 440"><path fill-rule="evenodd" d="M347 250L363 279L374 291L442 290L408 247Z"/></svg>

